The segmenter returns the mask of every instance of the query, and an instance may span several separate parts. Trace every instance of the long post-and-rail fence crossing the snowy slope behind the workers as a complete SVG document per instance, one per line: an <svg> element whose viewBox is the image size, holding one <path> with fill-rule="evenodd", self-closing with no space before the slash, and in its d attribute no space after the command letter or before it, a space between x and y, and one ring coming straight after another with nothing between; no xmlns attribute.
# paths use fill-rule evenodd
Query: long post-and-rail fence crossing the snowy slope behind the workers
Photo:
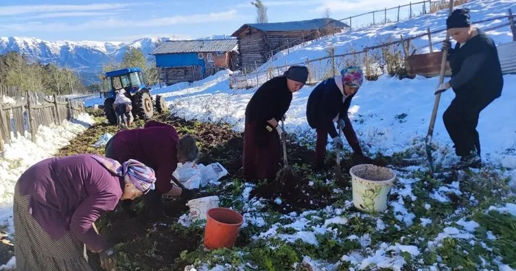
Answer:
<svg viewBox="0 0 516 271"><path fill-rule="evenodd" d="M473 22L473 24L505 19L507 20L507 23L494 25L482 30L484 32L488 32L501 27L509 26L511 27L511 32L513 33L513 39L516 40L516 27L514 27L514 18L515 15L511 10L508 10L508 15L496 16L494 18ZM255 71L249 73L246 71L235 71L235 73L233 73L230 78L230 87L231 89L250 89L255 86L259 86L260 84L270 80L270 78L281 75L288 69L288 67L292 65L305 65L308 68L309 76L307 84L314 84L320 80L337 75L337 72L340 70L340 68L349 66L349 64L365 67L364 74L366 75L366 78L371 80L371 78L377 78L383 73L388 73L388 64L385 63L386 61L382 60L382 63L379 63L380 61L378 61L383 57L382 54L385 54L386 51L390 51L390 54L397 54L398 59L396 61L399 62L399 65L405 66L408 74L411 75L413 74L412 67L410 67L411 62L407 61L408 58L415 54L417 49L423 49L423 47L430 47L430 51L433 51L434 45L442 43L442 40L432 43L432 35L445 31L445 29L434 31L427 29L427 32L424 34L408 37L400 36L399 40L393 40L388 43L382 43L371 47L364 47L362 51L352 51L347 54L336 55L334 54L334 50L332 48L327 48L327 56L313 59L307 58L304 62L290 64L285 62L285 65L282 66L272 66L272 61L269 61L268 63L263 64L261 69L257 67ZM428 39L427 45L419 48L412 46L412 40L423 37ZM269 65L267 66L267 64Z"/></svg>

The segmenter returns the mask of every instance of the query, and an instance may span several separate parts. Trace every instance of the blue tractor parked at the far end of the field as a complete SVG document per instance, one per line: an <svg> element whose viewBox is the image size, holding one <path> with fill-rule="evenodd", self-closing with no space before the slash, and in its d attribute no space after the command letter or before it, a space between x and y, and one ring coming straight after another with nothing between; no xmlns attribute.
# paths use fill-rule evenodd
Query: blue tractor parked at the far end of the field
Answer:
<svg viewBox="0 0 516 271"><path fill-rule="evenodd" d="M102 89L104 91L104 113L110 124L117 123L117 115L113 108L115 102L115 91L124 88L126 96L132 101L132 113L135 117L144 120L154 115L154 102L150 95L150 88L145 86L143 71L139 67L108 71L104 74ZM156 111L163 113L166 110L165 99L156 96Z"/></svg>

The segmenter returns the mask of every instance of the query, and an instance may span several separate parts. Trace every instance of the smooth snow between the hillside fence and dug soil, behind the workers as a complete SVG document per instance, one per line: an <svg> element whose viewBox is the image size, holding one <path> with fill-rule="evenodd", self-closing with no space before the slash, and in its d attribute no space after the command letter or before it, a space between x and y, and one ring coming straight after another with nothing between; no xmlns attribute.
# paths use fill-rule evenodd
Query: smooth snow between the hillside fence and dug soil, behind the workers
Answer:
<svg viewBox="0 0 516 271"><path fill-rule="evenodd" d="M226 71L213 77L214 83L204 85L205 88L194 86L174 91L173 85L161 91L174 91L165 94L165 100L169 101L172 113L180 117L200 121L226 121L233 123L235 130L243 131L245 108L256 89L229 89L228 80L221 80L228 78ZM360 140L371 146L371 152L383 150L387 155L420 144L426 136L430 122L437 84L438 78L418 76L414 80L398 80L388 75L382 75L375 82L364 82L351 103L349 113ZM516 75L504 75L502 97L482 111L478 123L484 158L511 168L516 168L516 163L510 163L516 160L515 152L507 152L516 144L516 119L512 114L516 100L516 92L512 90L515 86ZM315 131L309 128L305 116L306 102L312 89L313 86L305 86L298 93L294 93L286 114L287 132L315 138ZM442 115L453 98L452 91L441 95L434 128L434 142L443 146L452 145ZM440 152L448 156L449 163L453 162L454 155L450 149L444 148ZM441 153L436 155L441 156Z"/></svg>

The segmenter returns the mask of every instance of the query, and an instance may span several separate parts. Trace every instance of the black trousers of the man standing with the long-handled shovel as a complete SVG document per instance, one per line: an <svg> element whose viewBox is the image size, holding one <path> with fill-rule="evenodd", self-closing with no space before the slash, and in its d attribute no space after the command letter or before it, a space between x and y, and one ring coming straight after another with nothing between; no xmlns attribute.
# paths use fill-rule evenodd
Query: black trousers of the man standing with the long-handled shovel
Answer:
<svg viewBox="0 0 516 271"><path fill-rule="evenodd" d="M443 114L443 121L458 156L467 156L472 150L480 155L480 137L476 130L480 111L494 99L476 95L457 95Z"/></svg>

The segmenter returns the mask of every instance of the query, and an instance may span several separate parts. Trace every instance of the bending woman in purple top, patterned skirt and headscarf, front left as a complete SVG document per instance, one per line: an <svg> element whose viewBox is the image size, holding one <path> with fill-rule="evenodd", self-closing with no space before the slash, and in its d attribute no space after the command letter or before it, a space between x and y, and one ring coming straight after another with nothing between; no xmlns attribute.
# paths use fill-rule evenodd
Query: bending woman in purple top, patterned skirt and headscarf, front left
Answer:
<svg viewBox="0 0 516 271"><path fill-rule="evenodd" d="M93 222L119 200L154 189L154 171L139 161L120 165L93 154L48 158L27 169L14 188L16 270L95 270L84 245L99 252L102 268L116 253Z"/></svg>

